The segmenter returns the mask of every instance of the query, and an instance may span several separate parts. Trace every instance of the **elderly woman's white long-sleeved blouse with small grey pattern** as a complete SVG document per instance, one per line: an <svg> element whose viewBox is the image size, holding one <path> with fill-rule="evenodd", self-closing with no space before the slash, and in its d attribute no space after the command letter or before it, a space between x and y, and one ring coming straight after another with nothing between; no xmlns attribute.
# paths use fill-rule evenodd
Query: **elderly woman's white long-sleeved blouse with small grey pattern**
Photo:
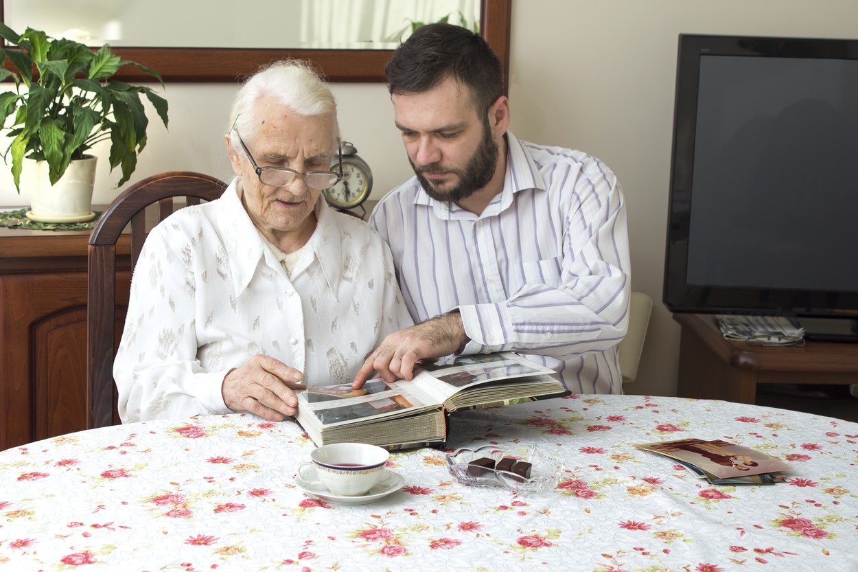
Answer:
<svg viewBox="0 0 858 572"><path fill-rule="evenodd" d="M309 386L351 383L387 334L413 324L390 250L366 222L320 198L309 255L288 277L239 185L148 235L113 368L124 423L229 412L223 378L257 354Z"/></svg>

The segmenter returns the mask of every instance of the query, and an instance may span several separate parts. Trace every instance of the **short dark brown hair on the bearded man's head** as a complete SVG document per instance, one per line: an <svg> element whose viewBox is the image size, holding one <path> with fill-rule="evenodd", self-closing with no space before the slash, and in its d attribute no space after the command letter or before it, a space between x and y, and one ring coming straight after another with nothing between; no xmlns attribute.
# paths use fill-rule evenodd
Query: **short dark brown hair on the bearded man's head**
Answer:
<svg viewBox="0 0 858 572"><path fill-rule="evenodd" d="M390 94L421 94L448 77L467 86L485 119L504 94L504 66L478 33L452 24L427 24L393 52L384 67Z"/></svg>

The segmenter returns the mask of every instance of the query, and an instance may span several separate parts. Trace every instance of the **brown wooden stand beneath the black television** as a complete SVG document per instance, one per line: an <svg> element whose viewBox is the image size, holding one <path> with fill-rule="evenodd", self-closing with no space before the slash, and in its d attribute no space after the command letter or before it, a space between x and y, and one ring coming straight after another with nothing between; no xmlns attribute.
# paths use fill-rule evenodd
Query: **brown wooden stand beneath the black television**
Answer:
<svg viewBox="0 0 858 572"><path fill-rule="evenodd" d="M680 397L752 404L758 383L858 384L858 344L748 345L724 339L714 315L674 313L674 319L682 326Z"/></svg>

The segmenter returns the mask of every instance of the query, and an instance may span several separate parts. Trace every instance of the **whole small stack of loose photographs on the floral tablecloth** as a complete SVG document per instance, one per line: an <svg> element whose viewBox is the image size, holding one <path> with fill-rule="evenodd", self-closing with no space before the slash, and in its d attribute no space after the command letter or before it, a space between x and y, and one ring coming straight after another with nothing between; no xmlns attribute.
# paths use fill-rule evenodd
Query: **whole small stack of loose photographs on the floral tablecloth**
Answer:
<svg viewBox="0 0 858 572"><path fill-rule="evenodd" d="M678 439L632 445L679 461L696 477L711 484L782 483L785 477L780 472L793 468L762 451L728 441Z"/></svg>

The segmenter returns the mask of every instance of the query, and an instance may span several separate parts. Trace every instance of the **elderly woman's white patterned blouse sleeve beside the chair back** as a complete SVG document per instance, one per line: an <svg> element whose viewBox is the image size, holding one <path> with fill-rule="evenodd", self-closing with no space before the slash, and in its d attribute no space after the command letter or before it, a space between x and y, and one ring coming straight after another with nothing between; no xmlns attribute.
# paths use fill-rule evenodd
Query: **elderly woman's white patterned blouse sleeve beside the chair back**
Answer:
<svg viewBox="0 0 858 572"><path fill-rule="evenodd" d="M205 371L196 358L190 248L162 228L149 234L137 261L113 366L124 423L231 412L221 394L227 369Z"/></svg>

